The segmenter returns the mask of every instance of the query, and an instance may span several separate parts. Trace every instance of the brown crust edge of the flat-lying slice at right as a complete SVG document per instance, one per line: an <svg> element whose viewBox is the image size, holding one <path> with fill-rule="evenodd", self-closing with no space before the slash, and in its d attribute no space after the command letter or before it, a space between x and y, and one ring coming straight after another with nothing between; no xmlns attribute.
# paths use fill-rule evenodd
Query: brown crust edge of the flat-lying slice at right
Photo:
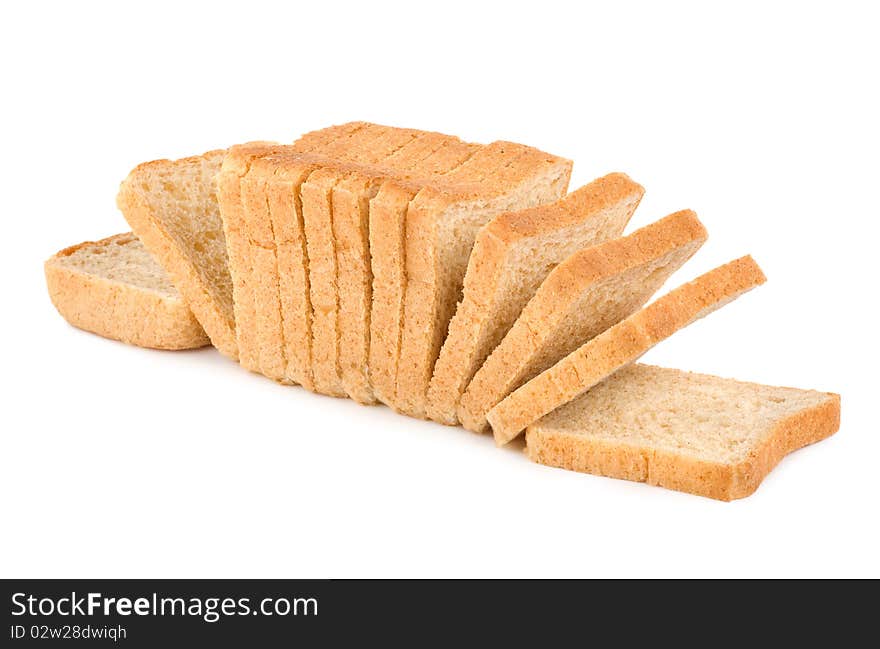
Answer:
<svg viewBox="0 0 880 649"><path fill-rule="evenodd" d="M530 459L547 466L645 482L676 491L730 501L755 492L789 453L831 436L840 428L840 395L776 422L748 457L722 464L648 446L554 430L541 422L526 430Z"/></svg>

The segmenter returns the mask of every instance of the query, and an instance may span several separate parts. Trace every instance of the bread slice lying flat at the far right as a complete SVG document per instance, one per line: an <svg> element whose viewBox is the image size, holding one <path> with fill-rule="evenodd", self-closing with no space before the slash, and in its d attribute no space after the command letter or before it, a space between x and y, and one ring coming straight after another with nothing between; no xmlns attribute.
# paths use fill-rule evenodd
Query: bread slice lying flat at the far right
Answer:
<svg viewBox="0 0 880 649"><path fill-rule="evenodd" d="M734 500L840 427L840 396L634 364L526 430L531 459Z"/></svg>

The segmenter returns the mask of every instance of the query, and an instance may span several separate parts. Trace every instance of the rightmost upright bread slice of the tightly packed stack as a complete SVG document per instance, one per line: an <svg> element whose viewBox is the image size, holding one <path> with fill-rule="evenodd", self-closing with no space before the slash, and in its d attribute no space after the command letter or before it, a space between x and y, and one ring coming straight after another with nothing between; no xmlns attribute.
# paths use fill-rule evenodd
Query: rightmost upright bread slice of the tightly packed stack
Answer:
<svg viewBox="0 0 880 649"><path fill-rule="evenodd" d="M489 144L443 177L459 187L419 191L407 208L406 290L394 408L426 416L428 384L461 298L477 232L493 217L558 200L571 161L509 142Z"/></svg>

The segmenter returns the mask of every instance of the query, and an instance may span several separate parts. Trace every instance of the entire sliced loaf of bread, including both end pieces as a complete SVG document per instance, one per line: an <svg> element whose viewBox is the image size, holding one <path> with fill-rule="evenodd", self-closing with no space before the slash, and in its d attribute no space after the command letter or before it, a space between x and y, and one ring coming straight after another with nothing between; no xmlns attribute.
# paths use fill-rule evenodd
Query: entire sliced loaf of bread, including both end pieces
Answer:
<svg viewBox="0 0 880 649"><path fill-rule="evenodd" d="M282 383L712 498L837 430L835 394L635 363L764 275L746 256L647 304L705 228L684 210L624 236L642 187L612 173L567 193L570 173L365 122L148 162L118 196L133 234L50 258L49 292L103 336L210 341Z"/></svg>

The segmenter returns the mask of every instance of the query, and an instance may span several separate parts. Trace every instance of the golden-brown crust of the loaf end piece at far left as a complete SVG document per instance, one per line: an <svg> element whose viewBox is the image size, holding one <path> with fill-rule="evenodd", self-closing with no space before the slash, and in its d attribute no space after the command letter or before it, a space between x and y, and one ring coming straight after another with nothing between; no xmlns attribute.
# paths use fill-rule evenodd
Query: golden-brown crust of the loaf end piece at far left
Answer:
<svg viewBox="0 0 880 649"><path fill-rule="evenodd" d="M84 241L50 257L44 264L46 285L58 313L74 327L139 347L178 350L210 344L179 295L165 295L60 263L82 248L125 245L136 239L132 233L117 234Z"/></svg>

